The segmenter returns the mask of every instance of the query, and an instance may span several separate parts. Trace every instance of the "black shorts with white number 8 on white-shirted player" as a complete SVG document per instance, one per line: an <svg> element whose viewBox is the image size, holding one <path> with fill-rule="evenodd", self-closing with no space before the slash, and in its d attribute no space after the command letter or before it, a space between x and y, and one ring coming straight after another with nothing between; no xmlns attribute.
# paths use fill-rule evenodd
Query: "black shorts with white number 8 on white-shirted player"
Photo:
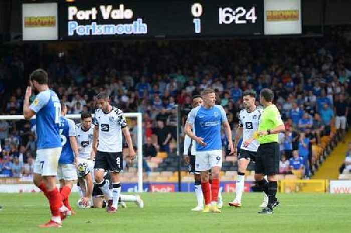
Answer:
<svg viewBox="0 0 351 233"><path fill-rule="evenodd" d="M97 151L95 155L94 169L104 169L111 172L123 171L122 152L102 152Z"/></svg>

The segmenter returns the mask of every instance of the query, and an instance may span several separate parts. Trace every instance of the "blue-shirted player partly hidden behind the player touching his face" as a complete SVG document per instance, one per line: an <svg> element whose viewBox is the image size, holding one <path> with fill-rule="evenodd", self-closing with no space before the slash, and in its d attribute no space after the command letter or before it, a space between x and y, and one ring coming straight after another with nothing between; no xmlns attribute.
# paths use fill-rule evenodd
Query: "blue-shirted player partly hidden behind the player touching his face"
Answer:
<svg viewBox="0 0 351 233"><path fill-rule="evenodd" d="M78 145L76 125L74 122L65 117L67 112L66 105L61 102L60 117L60 137L62 143L62 152L59 159L59 167L57 171L57 179L60 180L60 194L63 204L69 209L68 215L71 215L72 208L69 204L68 197L72 190L73 181L77 180L77 158Z"/></svg>

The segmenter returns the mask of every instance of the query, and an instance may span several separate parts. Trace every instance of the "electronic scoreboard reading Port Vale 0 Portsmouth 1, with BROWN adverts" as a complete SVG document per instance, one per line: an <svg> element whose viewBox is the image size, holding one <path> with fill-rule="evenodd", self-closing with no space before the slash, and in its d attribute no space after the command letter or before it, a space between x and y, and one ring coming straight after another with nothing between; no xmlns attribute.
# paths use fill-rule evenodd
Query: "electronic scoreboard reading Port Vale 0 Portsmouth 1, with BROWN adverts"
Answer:
<svg viewBox="0 0 351 233"><path fill-rule="evenodd" d="M22 6L22 15L26 18L23 19L23 34L27 31L35 31L36 23L38 23L38 31L56 27L58 32L56 40L64 41L255 36L265 35L265 31L268 32L266 34L301 34L300 1L57 0L51 3L32 2L24 3ZM292 6L291 3L293 3ZM57 7L56 16L43 15L48 5ZM29 7L32 9L32 15L26 16L31 14L26 10ZM33 19L34 24L29 18ZM53 18L56 19L55 26ZM51 24L45 25L45 19L51 19ZM41 20L43 22L40 22ZM297 25L299 30L289 31L289 27L284 26L287 23ZM275 31L267 30L269 24L273 24ZM31 27L26 28L26 25ZM279 27L288 31L279 33ZM33 36L36 35L39 34L33 34ZM31 40L25 35L23 38L23 40Z"/></svg>

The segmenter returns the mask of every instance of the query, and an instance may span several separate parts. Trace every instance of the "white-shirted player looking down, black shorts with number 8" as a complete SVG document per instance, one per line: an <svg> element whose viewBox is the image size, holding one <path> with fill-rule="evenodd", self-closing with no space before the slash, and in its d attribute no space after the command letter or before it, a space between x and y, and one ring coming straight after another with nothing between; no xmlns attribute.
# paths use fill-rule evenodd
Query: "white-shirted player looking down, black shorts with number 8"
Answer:
<svg viewBox="0 0 351 233"><path fill-rule="evenodd" d="M97 96L98 109L95 111L93 124L93 149L91 158L95 156L95 181L101 191L108 197L107 212L114 213L118 208L121 194L120 172L123 171L122 132L129 148L129 158L135 159L132 139L125 120L124 113L110 104L110 98L105 92ZM95 153L95 151L97 151ZM104 171L111 172L112 192L104 179Z"/></svg>

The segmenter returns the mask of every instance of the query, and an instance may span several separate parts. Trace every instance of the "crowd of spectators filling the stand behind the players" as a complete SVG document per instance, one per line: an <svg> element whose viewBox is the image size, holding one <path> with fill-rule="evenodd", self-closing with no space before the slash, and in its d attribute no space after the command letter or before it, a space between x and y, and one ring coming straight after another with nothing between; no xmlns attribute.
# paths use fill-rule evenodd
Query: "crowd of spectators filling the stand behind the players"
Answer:
<svg viewBox="0 0 351 233"><path fill-rule="evenodd" d="M33 49L27 46L0 58L0 95L6 98L2 114L22 114L23 77L37 68L29 59ZM287 129L279 136L282 172L303 168L309 176L312 144L330 135L336 117L350 115L350 49L339 33L270 40L75 43L63 46L60 56L46 51L41 65L69 114L93 112L100 91L107 91L112 104L124 112L143 113L144 157L173 152L175 106L184 125L191 97L204 88L215 89L233 137L243 91L271 88ZM12 84L5 91L7 82ZM129 125L137 146L136 121ZM30 174L35 123L0 121L0 140L0 174ZM228 141L225 135L222 140Z"/></svg>

